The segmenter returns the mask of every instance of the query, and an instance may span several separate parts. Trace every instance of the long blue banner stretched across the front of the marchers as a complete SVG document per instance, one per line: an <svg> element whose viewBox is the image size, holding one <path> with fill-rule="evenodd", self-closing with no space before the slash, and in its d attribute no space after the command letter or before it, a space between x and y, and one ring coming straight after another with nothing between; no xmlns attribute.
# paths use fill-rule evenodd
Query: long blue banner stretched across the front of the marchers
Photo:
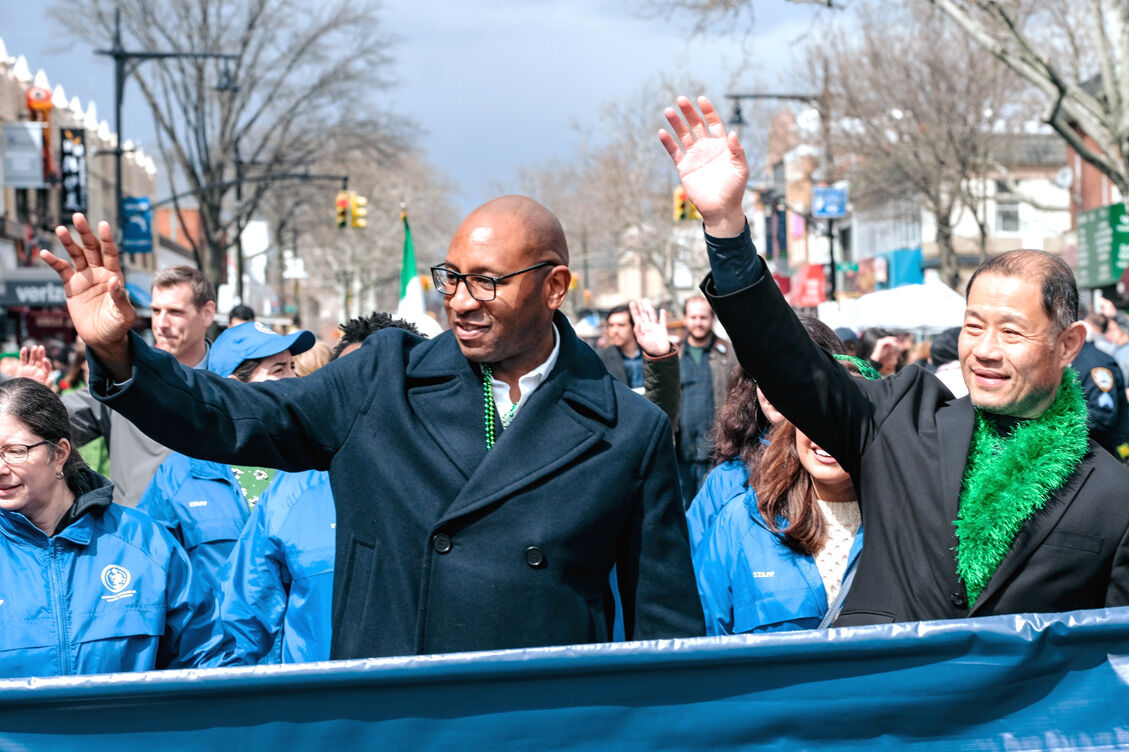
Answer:
<svg viewBox="0 0 1129 752"><path fill-rule="evenodd" d="M1097 750L1129 609L0 682L0 749Z"/></svg>

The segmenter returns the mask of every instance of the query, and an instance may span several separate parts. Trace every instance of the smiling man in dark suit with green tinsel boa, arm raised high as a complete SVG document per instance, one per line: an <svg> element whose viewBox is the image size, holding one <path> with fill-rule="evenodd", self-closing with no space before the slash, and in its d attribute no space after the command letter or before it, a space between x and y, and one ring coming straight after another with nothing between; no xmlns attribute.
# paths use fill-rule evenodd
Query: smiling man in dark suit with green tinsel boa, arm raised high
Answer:
<svg viewBox="0 0 1129 752"><path fill-rule="evenodd" d="M1076 374L1070 269L1041 251L969 282L969 396L904 368L860 382L824 356L756 256L744 150L685 98L659 139L703 218L702 283L741 365L855 481L866 544L835 626L1129 604L1129 470L1094 444ZM681 112L679 112L681 111Z"/></svg>

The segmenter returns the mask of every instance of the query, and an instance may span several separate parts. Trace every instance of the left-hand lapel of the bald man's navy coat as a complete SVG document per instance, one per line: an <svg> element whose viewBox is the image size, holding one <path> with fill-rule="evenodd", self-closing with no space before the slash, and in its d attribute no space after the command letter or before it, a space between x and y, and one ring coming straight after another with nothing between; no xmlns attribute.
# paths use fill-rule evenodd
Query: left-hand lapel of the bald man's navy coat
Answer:
<svg viewBox="0 0 1129 752"><path fill-rule="evenodd" d="M408 403L431 439L464 478L485 456L482 381L454 334L417 347L405 369Z"/></svg>

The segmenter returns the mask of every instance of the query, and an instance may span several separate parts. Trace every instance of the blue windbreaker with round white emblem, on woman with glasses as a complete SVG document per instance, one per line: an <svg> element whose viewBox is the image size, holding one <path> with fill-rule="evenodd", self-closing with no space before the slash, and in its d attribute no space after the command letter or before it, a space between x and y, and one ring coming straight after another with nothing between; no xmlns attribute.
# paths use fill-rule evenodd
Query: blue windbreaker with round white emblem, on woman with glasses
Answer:
<svg viewBox="0 0 1129 752"><path fill-rule="evenodd" d="M49 536L0 510L0 676L98 674L233 663L215 598L184 549L111 504L84 471L80 516Z"/></svg>

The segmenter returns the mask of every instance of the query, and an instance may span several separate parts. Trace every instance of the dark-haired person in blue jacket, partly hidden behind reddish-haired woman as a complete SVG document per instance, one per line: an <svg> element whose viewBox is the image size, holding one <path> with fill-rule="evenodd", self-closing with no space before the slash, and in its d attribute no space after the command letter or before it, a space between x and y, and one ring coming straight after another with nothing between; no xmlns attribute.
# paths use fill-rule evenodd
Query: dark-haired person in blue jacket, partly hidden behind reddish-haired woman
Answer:
<svg viewBox="0 0 1129 752"><path fill-rule="evenodd" d="M831 355L846 351L834 330L815 316L799 314L799 321L812 341ZM743 496L749 473L760 463L768 446L769 429L784 420L756 382L741 366L729 374L729 391L714 421L715 467L706 475L690 508L686 531L690 551L701 544L721 508L733 498Z"/></svg>

